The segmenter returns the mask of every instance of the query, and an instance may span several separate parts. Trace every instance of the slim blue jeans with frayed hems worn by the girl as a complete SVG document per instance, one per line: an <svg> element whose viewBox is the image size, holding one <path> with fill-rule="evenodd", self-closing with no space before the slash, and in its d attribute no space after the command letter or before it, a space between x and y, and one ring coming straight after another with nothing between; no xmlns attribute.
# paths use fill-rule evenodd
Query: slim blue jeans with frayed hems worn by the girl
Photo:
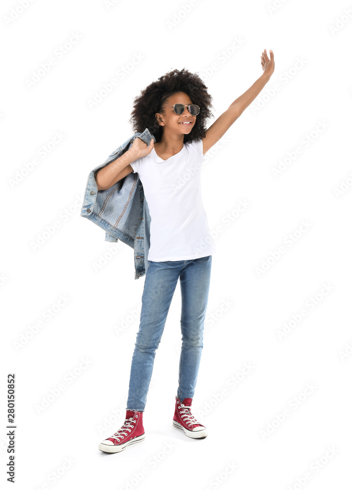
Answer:
<svg viewBox="0 0 352 490"><path fill-rule="evenodd" d="M155 351L161 341L178 278L181 286L182 347L177 397L193 398L203 349L211 255L197 259L148 260L142 294L141 322L132 356L126 410L143 412L152 376Z"/></svg>

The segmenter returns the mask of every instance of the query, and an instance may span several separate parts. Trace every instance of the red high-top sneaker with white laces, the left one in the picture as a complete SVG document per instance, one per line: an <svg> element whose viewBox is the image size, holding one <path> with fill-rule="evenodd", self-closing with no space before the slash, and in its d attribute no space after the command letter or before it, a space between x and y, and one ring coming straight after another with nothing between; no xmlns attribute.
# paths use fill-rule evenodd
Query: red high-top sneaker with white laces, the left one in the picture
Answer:
<svg viewBox="0 0 352 490"><path fill-rule="evenodd" d="M126 419L120 429L105 441L100 442L99 449L106 453L118 453L129 444L141 442L145 438L143 412L126 411Z"/></svg>

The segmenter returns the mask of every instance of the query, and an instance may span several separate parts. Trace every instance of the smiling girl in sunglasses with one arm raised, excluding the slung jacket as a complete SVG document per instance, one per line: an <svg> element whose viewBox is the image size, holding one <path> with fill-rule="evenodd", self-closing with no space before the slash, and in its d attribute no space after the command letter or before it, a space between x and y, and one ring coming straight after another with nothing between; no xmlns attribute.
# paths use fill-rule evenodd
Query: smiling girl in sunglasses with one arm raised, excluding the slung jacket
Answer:
<svg viewBox="0 0 352 490"><path fill-rule="evenodd" d="M261 53L262 75L206 129L211 96L201 78L177 69L146 87L134 101L130 121L136 132L155 134L149 147L133 145L95 176L98 190L107 189L130 172L138 172L150 223L148 268L142 294L141 321L132 357L125 421L99 444L115 453L144 440L143 412L155 351L161 341L170 303L180 278L182 348L173 425L186 436L203 439L206 427L191 414L203 349L211 255L216 251L202 203L200 169L204 154L226 133L258 96L274 71L274 54Z"/></svg>

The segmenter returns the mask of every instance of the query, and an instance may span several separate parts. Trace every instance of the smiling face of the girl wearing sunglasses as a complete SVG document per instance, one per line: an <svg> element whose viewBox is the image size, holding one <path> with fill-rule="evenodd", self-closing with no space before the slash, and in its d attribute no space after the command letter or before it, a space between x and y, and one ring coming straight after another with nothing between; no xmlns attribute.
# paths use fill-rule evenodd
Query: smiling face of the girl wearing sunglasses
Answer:
<svg viewBox="0 0 352 490"><path fill-rule="evenodd" d="M192 101L185 92L177 92L169 98L167 98L162 106L162 113L157 113L156 117L159 125L164 126L163 134L173 133L173 134L189 134L194 126L197 116L192 116L188 107L185 107L184 112L178 116L174 109L174 104L189 105ZM186 123L189 121L189 124Z"/></svg>

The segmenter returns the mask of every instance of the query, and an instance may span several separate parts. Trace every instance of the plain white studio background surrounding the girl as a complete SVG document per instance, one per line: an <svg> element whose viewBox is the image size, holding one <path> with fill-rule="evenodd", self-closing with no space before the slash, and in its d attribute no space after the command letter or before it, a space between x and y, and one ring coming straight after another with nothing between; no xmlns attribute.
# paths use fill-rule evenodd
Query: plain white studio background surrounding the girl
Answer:
<svg viewBox="0 0 352 490"><path fill-rule="evenodd" d="M351 2L23 5L1 3L1 482L9 485L6 376L15 372L18 489L350 489ZM70 44L73 34L79 39ZM55 55L65 43L70 49ZM202 173L210 229L222 226L192 405L209 436L191 440L172 425L177 286L156 353L146 438L102 453L98 443L125 417L144 278L134 279L132 248L105 242L80 217L88 174L133 134L133 99L152 81L174 68L199 73L217 118L261 75L264 48L274 51L275 72L225 144L209 151ZM142 59L131 66L136 53ZM55 64L28 86L50 58ZM55 132L62 140L52 145ZM239 212L241 200L249 205ZM228 213L234 219L225 225ZM309 226L299 232L302 221ZM57 307L60 296L66 303Z"/></svg>

